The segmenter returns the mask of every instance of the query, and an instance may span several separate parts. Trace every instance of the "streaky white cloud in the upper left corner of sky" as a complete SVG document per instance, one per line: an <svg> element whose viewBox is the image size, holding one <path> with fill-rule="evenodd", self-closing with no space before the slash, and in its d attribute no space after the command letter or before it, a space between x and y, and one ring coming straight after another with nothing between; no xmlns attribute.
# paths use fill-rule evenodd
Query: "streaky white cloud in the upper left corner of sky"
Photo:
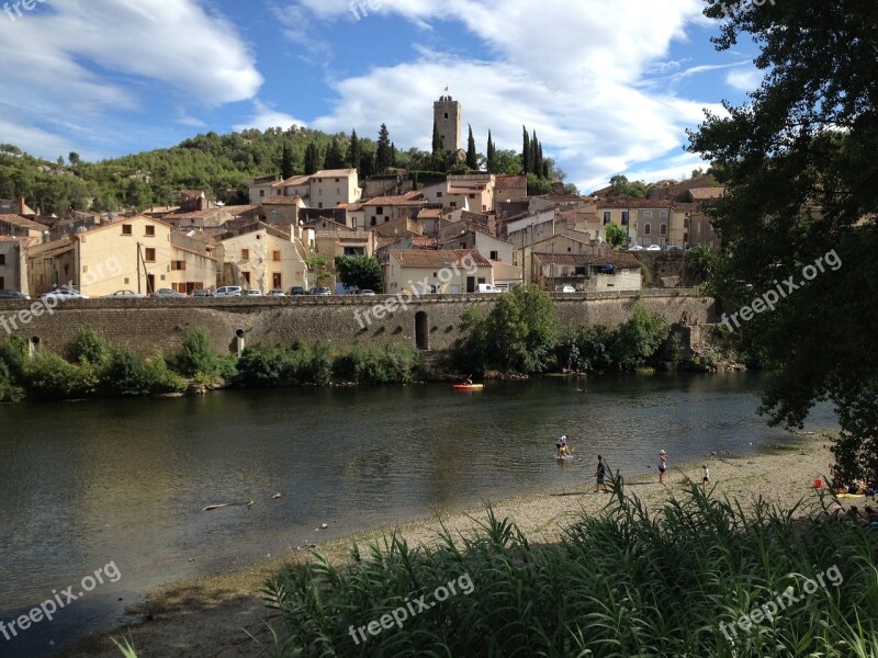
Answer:
<svg viewBox="0 0 878 658"><path fill-rule="evenodd" d="M14 23L0 18L3 95L59 143L131 131L137 113L164 99L210 109L252 99L262 84L234 25L199 0L59 0ZM46 139L33 137L14 140L50 157Z"/></svg>

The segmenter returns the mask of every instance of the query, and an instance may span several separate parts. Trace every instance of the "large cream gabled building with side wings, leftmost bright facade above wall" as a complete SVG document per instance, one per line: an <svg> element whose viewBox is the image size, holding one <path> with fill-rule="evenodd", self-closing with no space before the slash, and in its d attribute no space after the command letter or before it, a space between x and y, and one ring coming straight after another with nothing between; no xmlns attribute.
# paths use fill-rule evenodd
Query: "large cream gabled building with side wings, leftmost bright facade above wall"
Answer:
<svg viewBox="0 0 878 658"><path fill-rule="evenodd" d="M120 290L150 294L216 285L216 259L194 240L172 241L172 230L138 215L33 246L27 257L31 290L41 295L72 284L89 297L101 297Z"/></svg>

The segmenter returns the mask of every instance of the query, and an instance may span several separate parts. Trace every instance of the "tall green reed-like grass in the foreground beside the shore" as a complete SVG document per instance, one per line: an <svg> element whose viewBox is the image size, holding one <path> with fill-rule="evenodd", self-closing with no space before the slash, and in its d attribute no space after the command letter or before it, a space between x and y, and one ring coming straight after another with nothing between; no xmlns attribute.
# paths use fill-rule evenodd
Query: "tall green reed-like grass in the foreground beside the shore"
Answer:
<svg viewBox="0 0 878 658"><path fill-rule="evenodd" d="M877 532L762 500L745 510L697 486L651 515L614 486L614 503L583 514L555 545L530 544L488 509L458 544L447 532L430 549L393 535L364 554L354 547L346 568L318 553L288 567L263 592L285 627L271 655L878 656ZM809 578L833 567L838 587L825 580L804 594ZM351 625L463 574L472 594L353 642ZM729 633L788 587L799 602Z"/></svg>

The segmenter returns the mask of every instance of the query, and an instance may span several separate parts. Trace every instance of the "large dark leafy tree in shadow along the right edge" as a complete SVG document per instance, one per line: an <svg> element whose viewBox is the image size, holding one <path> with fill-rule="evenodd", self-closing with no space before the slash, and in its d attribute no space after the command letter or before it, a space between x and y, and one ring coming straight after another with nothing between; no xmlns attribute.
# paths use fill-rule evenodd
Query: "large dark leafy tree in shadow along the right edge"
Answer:
<svg viewBox="0 0 878 658"><path fill-rule="evenodd" d="M754 39L764 78L746 104L706 113L689 135L689 150L727 185L709 209L722 238L710 283L733 337L783 365L763 395L769 422L801 427L814 402L829 399L841 426L832 445L838 473L875 481L875 7L802 0L724 10L705 10L720 21L717 48ZM743 305L755 311L757 296L764 313L746 314L748 321L731 315Z"/></svg>

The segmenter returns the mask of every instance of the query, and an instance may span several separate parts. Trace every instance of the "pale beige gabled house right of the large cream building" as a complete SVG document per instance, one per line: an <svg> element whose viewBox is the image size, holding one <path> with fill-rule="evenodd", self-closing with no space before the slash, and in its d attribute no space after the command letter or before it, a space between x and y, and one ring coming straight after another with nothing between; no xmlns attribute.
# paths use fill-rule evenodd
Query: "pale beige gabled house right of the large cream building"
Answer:
<svg viewBox="0 0 878 658"><path fill-rule="evenodd" d="M263 294L292 286L311 287L306 260L311 231L286 231L261 222L229 231L224 249L223 285L240 285Z"/></svg>

